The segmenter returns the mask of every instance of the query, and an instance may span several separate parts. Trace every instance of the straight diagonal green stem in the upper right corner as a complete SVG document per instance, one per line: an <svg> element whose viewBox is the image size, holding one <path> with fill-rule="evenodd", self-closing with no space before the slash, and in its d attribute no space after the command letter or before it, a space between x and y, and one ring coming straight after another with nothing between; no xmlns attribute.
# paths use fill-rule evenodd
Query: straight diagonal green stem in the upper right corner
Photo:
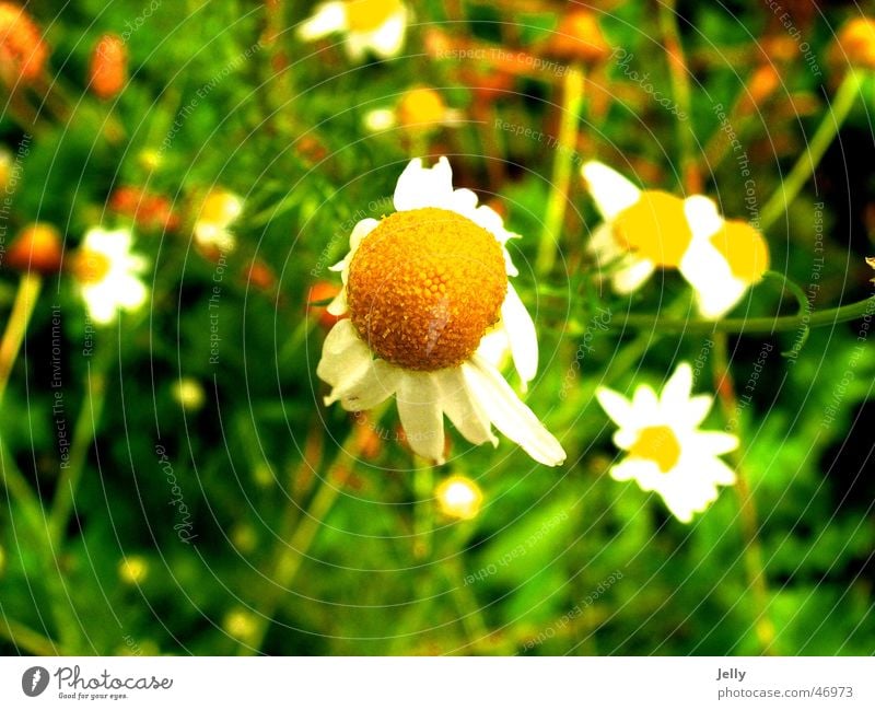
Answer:
<svg viewBox="0 0 875 710"><path fill-rule="evenodd" d="M800 190L814 174L832 139L838 135L859 95L860 78L853 70L850 70L844 75L838 92L836 92L836 97L830 104L830 110L824 116L824 120L817 127L812 142L808 143L808 150L800 156L781 187L775 190L762 207L758 225L760 231L768 230L778 218L786 212L790 205L796 199Z"/></svg>

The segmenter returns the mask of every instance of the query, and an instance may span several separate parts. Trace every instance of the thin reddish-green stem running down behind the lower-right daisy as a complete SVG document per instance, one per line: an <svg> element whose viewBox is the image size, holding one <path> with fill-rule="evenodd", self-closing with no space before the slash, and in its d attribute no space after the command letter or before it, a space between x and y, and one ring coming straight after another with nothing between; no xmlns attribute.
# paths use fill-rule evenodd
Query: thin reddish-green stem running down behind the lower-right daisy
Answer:
<svg viewBox="0 0 875 710"><path fill-rule="evenodd" d="M735 396L735 385L730 372L727 357L727 337L725 333L714 335L714 386L720 399L723 416L728 422L730 431L737 428L738 401ZM744 539L744 563L747 573L748 589L756 618L754 629L763 654L774 652L774 624L769 617L769 585L766 575L766 566L762 562L762 546L759 542L759 523L754 493L747 480L742 457L738 451L730 454L730 459L735 468L735 492L738 497L738 514L740 516L742 536Z"/></svg>

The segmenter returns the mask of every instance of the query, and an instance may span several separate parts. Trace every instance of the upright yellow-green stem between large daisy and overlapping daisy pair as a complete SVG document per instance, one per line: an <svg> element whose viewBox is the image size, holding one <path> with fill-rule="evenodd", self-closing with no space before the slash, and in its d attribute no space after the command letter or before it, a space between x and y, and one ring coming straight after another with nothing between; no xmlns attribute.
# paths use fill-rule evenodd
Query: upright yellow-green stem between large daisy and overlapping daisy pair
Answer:
<svg viewBox="0 0 875 710"><path fill-rule="evenodd" d="M563 84L562 114L559 124L559 142L553 159L553 172L544 230L538 245L536 271L545 275L556 264L562 222L565 218L571 173L578 155L578 124L583 105L584 75L580 67L569 67Z"/></svg>

